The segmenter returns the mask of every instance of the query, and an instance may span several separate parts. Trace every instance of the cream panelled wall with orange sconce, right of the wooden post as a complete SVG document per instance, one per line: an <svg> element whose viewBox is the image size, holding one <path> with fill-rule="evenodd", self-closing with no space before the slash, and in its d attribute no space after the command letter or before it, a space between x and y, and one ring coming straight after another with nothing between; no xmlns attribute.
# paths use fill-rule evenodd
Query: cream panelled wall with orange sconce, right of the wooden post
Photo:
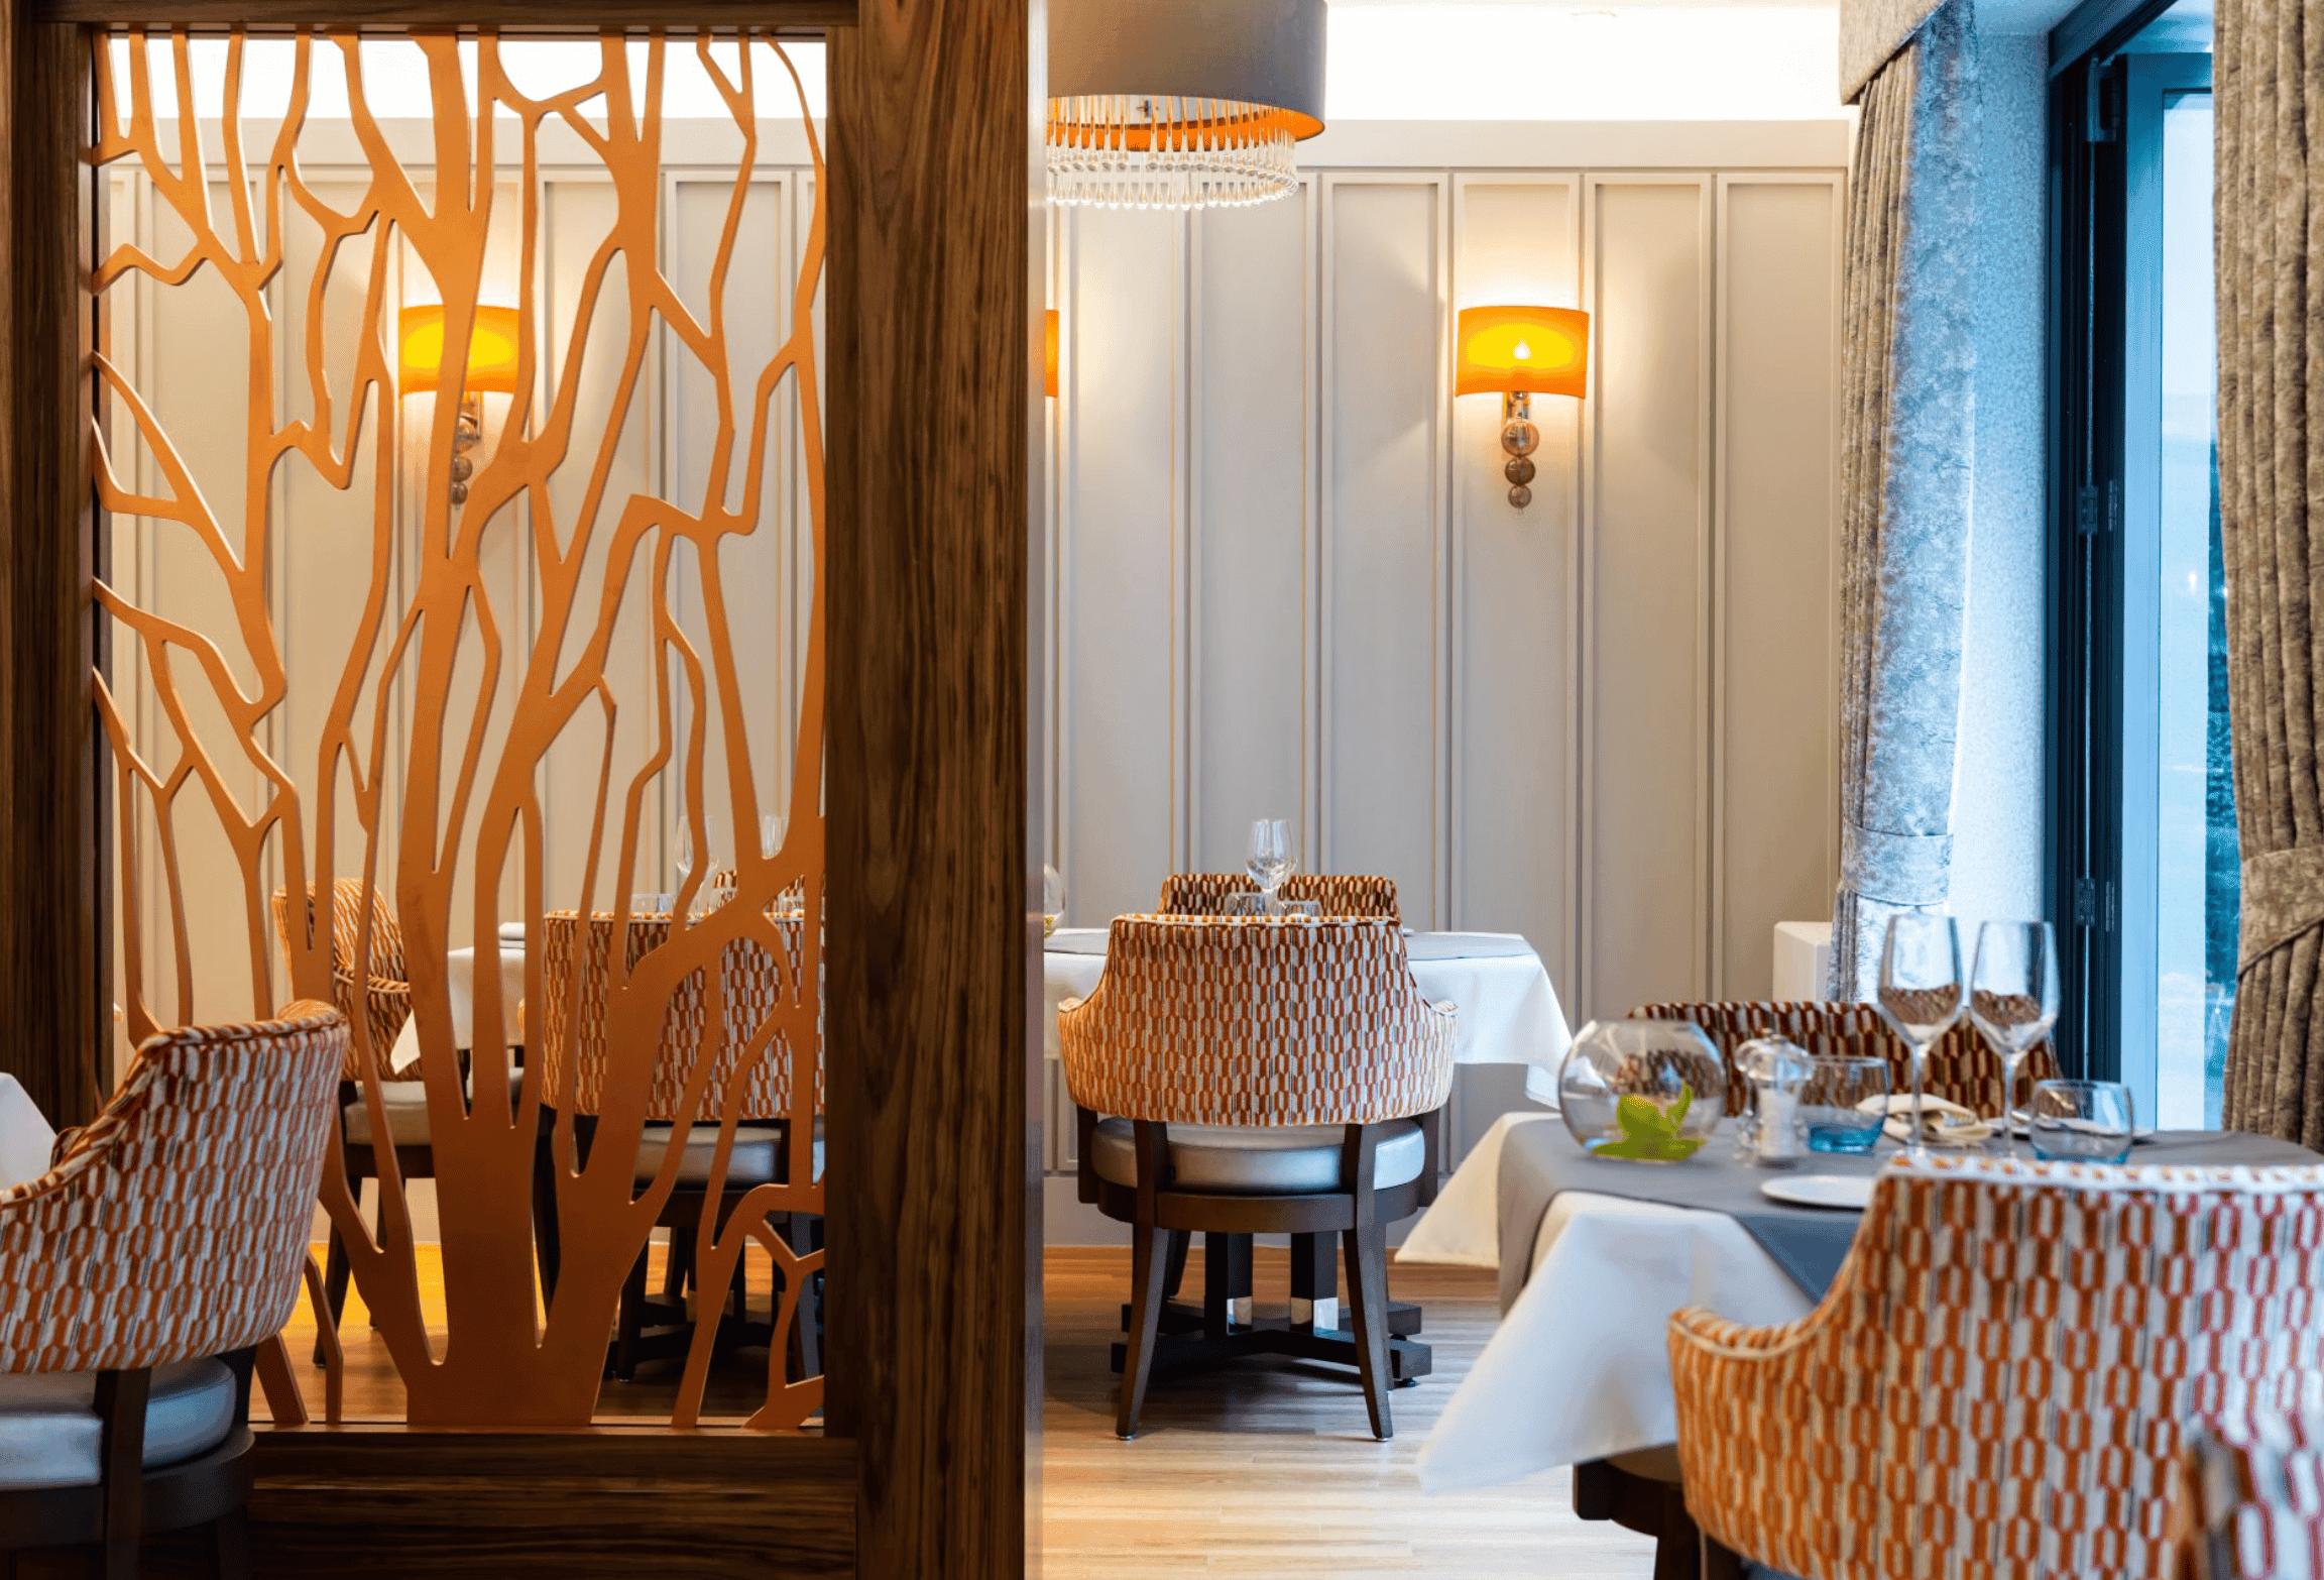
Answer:
<svg viewBox="0 0 2324 1580"><path fill-rule="evenodd" d="M1764 997L1836 871L1834 163L1371 163L1062 214L1067 920L1290 816L1411 925L1527 934L1576 1025ZM1590 400L1534 402L1525 511L1499 400L1450 395L1452 311L1497 300L1594 328Z"/></svg>

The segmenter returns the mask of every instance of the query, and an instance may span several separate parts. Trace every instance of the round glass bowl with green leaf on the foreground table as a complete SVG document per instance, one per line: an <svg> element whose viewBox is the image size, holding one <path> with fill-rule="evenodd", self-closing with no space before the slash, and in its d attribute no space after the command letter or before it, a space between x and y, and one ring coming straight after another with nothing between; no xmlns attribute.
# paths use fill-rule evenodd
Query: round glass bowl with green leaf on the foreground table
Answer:
<svg viewBox="0 0 2324 1580"><path fill-rule="evenodd" d="M1585 1150L1694 1157L1727 1111L1727 1062L1692 1020L1592 1020L1557 1071L1557 1113Z"/></svg>

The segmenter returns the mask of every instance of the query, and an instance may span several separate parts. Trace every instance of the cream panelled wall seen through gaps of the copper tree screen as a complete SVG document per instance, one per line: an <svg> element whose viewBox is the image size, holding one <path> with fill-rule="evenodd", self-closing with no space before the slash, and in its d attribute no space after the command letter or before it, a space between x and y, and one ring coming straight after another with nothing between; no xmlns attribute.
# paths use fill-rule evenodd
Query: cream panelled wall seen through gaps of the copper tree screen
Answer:
<svg viewBox="0 0 2324 1580"><path fill-rule="evenodd" d="M335 130L339 128L321 128L309 132L309 137L328 151ZM207 132L211 144L216 144L216 130L207 128ZM423 142L423 128L388 123L388 135L407 146L407 158L416 167L425 167L428 144ZM332 167L328 160L307 160L302 165L309 186L328 202L351 204L358 191L351 184L367 179L351 146L349 153L344 170ZM734 156L732 128L711 123L672 123L667 128L660 267L674 283L681 302L700 316L709 314L709 274L713 253L720 246L720 228L727 221ZM225 184L216 184L221 209L225 193ZM518 186L511 181L504 184L500 200L514 204L518 195ZM623 283L618 279L618 263L614 265L614 276L607 281L607 300L600 304L588 344L574 353L565 342L576 316L579 295L586 290L590 256L604 242L614 214L611 186L607 184L602 163L593 156L569 149L567 158L558 158L558 139L544 137L537 200L544 214L544 246L535 279L541 328L546 330L541 342L544 356L579 356L583 393L576 430L581 435L604 432L623 342L630 330L621 307ZM730 353L737 367L762 362L788 328L792 281L797 279L799 246L811 209L813 172L797 128L783 123L762 125L760 160L734 232L737 260L732 279L744 281L746 288L737 290L730 286L723 304L732 335ZM149 181L125 167L109 172L107 225L112 242L137 239L158 256L177 256L181 251L181 246L172 246L181 237L170 235L172 221L167 218L167 209L153 202ZM297 325L304 316L307 304L297 300L297 290L307 283L311 270L314 237L316 232L311 232L302 216L293 214L286 221L288 267L277 279L270 302L281 325ZM509 228L509 237L514 237L514 225ZM504 239L495 232L495 244ZM367 260L372 244L372 237L358 237L349 246L358 258ZM502 251L509 253L504 258L507 300L514 302L516 270L521 265L514 251L507 246ZM353 274L360 276L360 267ZM337 279L344 288L349 279L346 263L342 263ZM407 300L435 300L435 290L421 279L402 281L402 293ZM353 335L360 325L358 297L356 288L344 288L344 300L323 304L335 381L339 381L342 390L346 388L344 369L351 365ZM107 349L123 367L132 369L137 388L153 404L163 428L186 448L205 495L225 518L225 530L239 539L242 511L232 502L242 497L244 365L249 356L239 309L228 293L214 288L207 274L195 274L186 288L172 290L139 281L132 300L135 309L130 314L116 314L105 325ZM665 493L665 497L674 500L700 497L702 479L709 474L711 444L716 439L716 411L709 409L713 400L711 381L697 362L679 351L667 330L651 351L653 372L646 386L651 397L632 409L621 425L609 469L611 504L607 509L618 509L618 502L630 493ZM293 416L304 416L311 402L304 393L304 365L293 335L279 335L274 353L281 400ZM779 402L781 407L769 425L774 451L762 462L765 488L774 500L767 525L748 537L727 537L720 551L725 555L730 597L748 595L765 611L762 618L730 616L737 660L760 681L751 718L746 720L746 739L753 753L755 778L762 788L788 783L804 669L804 611L813 586L806 486L797 448L797 407L788 386L779 395ZM430 404L432 395L409 397L402 414L407 428L423 425ZM479 453L488 455L509 402L507 397L486 397L483 404L486 444ZM746 425L748 414L739 414L737 421ZM379 432L379 414L372 414L358 448L358 483L349 493L323 486L314 472L295 465L281 467L272 483L279 530L274 534L267 599L274 627L284 641L288 688L286 706L270 720L265 744L302 781L309 797L314 788L307 781L314 778L318 720L330 704L330 688L346 653L349 599L358 599L370 581L370 465L376 453ZM119 404L107 439L114 455L123 458L121 465L128 474L137 476L139 486L153 488L153 460L137 444L135 428ZM567 523L567 530L588 486L588 465L595 460L595 446L576 446L576 455L579 460L562 467L551 483L558 520ZM416 455L400 458L393 469L393 509L397 511L397 520L411 527L395 576L409 579L418 574L418 516L414 500L425 481ZM734 467L730 500L737 504L746 472L748 467ZM495 581L495 611L502 618L509 618L514 611L525 623L521 632L511 632L523 644L532 641L537 623L535 599L528 592L532 579L530 530L528 516L521 509L509 509L504 518L490 523L483 539L486 572ZM221 632L228 627L228 602L216 586L216 572L207 553L184 541L181 530L174 525L156 527L156 523L135 516L116 516L112 534L112 574L137 602L158 606L195 630ZM637 567L639 574L644 569ZM595 574L590 572L590 576ZM676 555L672 565L672 613L681 627L700 637L704 620L697 588L700 579L693 562ZM569 637L569 641L579 639L579 632ZM225 651L235 660L235 644L225 644ZM618 685L625 704L616 725L614 774L618 785L653 751L653 741L648 739L653 725L644 695L658 683L658 676L653 674L641 588L632 588L625 597L616 630L616 653L627 655L625 665L609 660L609 674L623 676ZM465 667L467 658L462 658L460 681L474 690L474 672ZM239 665L239 660L235 662ZM163 751L158 755L167 757L172 739L167 720L160 716L156 692L142 674L135 646L119 637L114 644L114 674L125 706L132 709L139 737L144 741L160 741ZM676 683L674 676L672 683ZM193 688L191 695L200 709L205 692ZM495 702L500 718L511 709L511 695L514 674L507 674ZM386 832L379 853L381 874L388 883L393 883L388 874L393 871L395 827L400 823L393 769L402 760L404 706L404 699L397 697L395 711L388 718L390 741L386 764L390 788L381 816ZM198 718L195 723L209 725L211 720ZM449 732L462 725L465 718L453 718L449 720ZM602 732L593 734L593 730L595 725L586 720L569 730L567 739L553 751L553 767L541 788L548 906L581 904L581 867L604 755ZM709 732L706 785L723 785L723 751L725 734L718 730ZM228 764L228 774L235 778L237 792L256 797L256 771ZM674 774L665 774L651 790L653 811L646 818L646 848L641 850L632 888L674 888L676 795ZM363 843L360 834L351 827L344 785L339 818L337 869L342 874L360 871ZM730 811L718 795L706 797L706 818L711 825L711 853L723 860L734 857L739 841L758 839L758 830L730 827ZM249 1013L256 999L272 997L279 983L253 985L249 981L239 904L242 885L232 853L209 818L186 818L186 823L181 860L186 862L188 909L195 922L188 929L191 969L186 976L198 985L195 1013L207 1018L239 1018ZM474 836L474 830L469 836ZM160 1004L167 1006L174 1001L177 964L167 943L165 895L156 862L151 862L153 841L158 839L151 820L146 820L139 839L149 853L144 862L146 892L142 906L144 957L153 981L160 983ZM281 883L277 853L270 853L265 881L267 888ZM595 904L604 906L611 899L611 878L600 876ZM502 913L516 915L514 876ZM456 934L449 943L462 946L469 941L465 899L456 904L453 915Z"/></svg>

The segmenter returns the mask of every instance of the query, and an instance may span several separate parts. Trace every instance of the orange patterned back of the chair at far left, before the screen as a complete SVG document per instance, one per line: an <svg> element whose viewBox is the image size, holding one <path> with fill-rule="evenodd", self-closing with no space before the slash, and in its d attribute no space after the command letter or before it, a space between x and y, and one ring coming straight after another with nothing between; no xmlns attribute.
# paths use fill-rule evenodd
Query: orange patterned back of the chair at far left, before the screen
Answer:
<svg viewBox="0 0 2324 1580"><path fill-rule="evenodd" d="M0 1371L167 1366L281 1331L335 1139L346 1015L146 1039L105 1111L0 1192Z"/></svg>

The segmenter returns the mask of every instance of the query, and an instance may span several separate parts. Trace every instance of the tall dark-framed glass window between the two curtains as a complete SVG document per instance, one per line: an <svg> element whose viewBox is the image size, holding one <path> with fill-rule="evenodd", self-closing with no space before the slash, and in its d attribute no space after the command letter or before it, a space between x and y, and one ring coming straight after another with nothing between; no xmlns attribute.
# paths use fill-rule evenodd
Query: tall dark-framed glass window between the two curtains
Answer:
<svg viewBox="0 0 2324 1580"><path fill-rule="evenodd" d="M2236 992L2210 14L2103 7L2052 112L2052 881L2066 1053L2215 1127Z"/></svg>

